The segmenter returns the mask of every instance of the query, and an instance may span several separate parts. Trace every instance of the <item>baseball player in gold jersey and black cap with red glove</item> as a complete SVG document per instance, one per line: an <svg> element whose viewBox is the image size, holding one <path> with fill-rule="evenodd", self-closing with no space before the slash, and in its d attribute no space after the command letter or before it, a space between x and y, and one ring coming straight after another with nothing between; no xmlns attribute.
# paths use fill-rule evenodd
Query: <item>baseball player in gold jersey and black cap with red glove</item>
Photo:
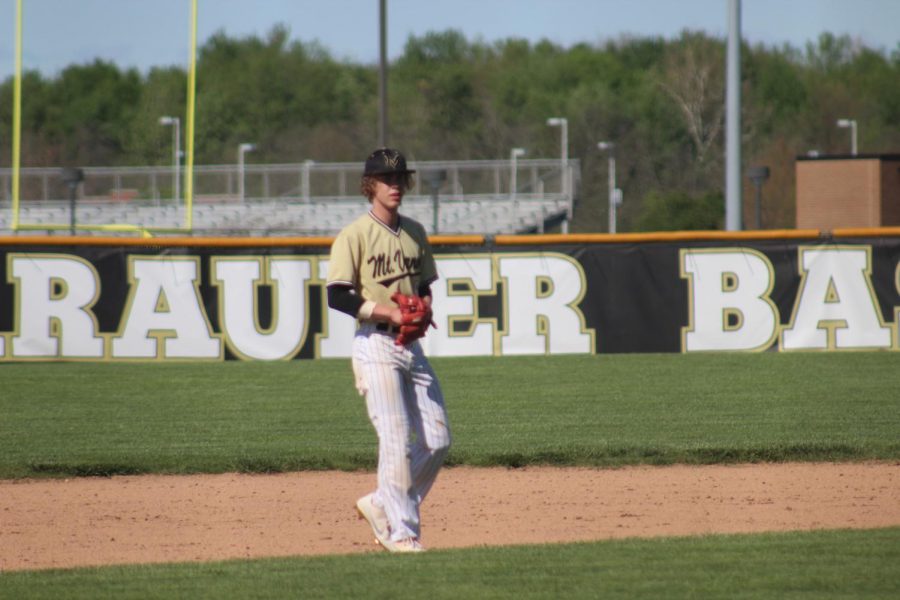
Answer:
<svg viewBox="0 0 900 600"><path fill-rule="evenodd" d="M378 434L378 486L356 503L375 540L391 552L421 552L419 506L450 447L437 377L417 341L431 321L437 279L421 224L398 212L415 171L397 150L365 163L368 213L335 238L328 306L358 319L352 365Z"/></svg>

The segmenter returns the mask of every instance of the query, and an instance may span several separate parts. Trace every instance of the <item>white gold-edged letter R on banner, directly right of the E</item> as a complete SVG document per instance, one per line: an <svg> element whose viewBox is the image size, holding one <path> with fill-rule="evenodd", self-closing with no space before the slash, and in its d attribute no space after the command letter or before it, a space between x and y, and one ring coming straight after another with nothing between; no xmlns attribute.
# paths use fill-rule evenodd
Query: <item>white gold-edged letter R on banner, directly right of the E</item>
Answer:
<svg viewBox="0 0 900 600"><path fill-rule="evenodd" d="M584 271L564 254L499 255L507 327L502 354L593 353L594 330L577 304L586 291Z"/></svg>

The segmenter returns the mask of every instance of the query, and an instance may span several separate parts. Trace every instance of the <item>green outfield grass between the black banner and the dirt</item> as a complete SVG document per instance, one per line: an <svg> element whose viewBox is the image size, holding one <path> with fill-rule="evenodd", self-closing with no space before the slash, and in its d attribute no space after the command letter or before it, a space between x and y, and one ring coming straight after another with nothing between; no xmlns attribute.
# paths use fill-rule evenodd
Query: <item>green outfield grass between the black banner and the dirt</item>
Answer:
<svg viewBox="0 0 900 600"><path fill-rule="evenodd" d="M900 354L440 359L451 464L900 458ZM373 468L349 361L0 365L0 477Z"/></svg>

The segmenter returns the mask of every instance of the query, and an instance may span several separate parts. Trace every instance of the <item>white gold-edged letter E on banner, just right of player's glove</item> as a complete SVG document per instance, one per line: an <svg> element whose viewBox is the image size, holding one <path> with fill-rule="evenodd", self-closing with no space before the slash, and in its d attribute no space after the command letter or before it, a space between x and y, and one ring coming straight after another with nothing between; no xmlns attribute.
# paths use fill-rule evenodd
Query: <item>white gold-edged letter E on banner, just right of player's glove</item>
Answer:
<svg viewBox="0 0 900 600"><path fill-rule="evenodd" d="M489 255L442 255L437 263L439 279L432 284L434 322L422 339L426 352L435 356L487 356L494 353L496 319L478 315L477 298L494 295L493 261Z"/></svg>

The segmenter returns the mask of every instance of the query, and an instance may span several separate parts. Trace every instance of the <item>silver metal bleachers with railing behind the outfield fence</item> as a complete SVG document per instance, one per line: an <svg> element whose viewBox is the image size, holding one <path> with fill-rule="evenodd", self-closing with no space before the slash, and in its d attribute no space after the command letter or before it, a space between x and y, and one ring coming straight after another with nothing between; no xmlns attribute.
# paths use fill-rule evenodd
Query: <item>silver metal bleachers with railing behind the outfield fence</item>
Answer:
<svg viewBox="0 0 900 600"><path fill-rule="evenodd" d="M431 234L567 230L577 161L565 169L558 159L434 161L410 163L410 168L417 171L415 185L401 212ZM243 170L201 166L194 169L188 229L184 201L173 200L172 167L87 167L83 172L73 201L59 169L22 169L14 228L12 173L0 169L0 235L77 229L81 235L332 236L367 207L357 191L356 163L255 164ZM511 182L517 182L515 190Z"/></svg>

